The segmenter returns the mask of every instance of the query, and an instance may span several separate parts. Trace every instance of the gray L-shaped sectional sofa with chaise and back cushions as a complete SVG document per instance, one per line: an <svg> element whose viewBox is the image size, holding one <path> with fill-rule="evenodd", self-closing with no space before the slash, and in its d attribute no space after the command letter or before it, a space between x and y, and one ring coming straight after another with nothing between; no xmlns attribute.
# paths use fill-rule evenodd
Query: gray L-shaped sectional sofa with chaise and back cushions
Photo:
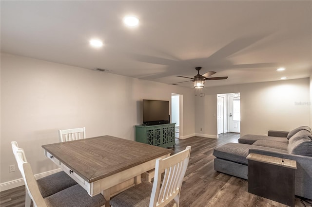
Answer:
<svg viewBox="0 0 312 207"><path fill-rule="evenodd" d="M248 179L246 157L250 153L296 160L295 195L312 199L310 127L301 126L290 132L269 131L268 136L245 135L239 138L238 142L227 143L214 149L215 171Z"/></svg>

